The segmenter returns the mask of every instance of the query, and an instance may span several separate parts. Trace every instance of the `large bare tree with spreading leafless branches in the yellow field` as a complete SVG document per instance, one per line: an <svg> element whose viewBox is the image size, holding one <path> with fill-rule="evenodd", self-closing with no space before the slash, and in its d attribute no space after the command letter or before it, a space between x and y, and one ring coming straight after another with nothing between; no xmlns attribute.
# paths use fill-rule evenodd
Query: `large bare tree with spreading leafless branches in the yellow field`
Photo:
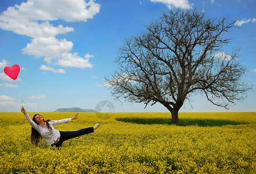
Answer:
<svg viewBox="0 0 256 174"><path fill-rule="evenodd" d="M233 27L235 21L208 19L196 9L169 10L118 48L117 70L105 77L111 93L146 106L163 104L172 124L179 123L178 111L192 93L228 108L250 89L241 81L247 70L239 49L222 50L230 41L223 35Z"/></svg>

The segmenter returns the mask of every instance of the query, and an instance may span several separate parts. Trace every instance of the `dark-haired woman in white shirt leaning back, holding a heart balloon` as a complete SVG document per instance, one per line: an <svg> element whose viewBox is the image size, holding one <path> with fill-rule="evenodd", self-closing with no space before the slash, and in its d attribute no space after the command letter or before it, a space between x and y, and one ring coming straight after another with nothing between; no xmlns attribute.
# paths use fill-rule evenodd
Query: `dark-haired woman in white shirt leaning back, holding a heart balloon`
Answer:
<svg viewBox="0 0 256 174"><path fill-rule="evenodd" d="M53 128L53 125L63 124L64 122L71 121L73 119L77 119L78 113L74 115L73 118L66 118L60 120L44 120L42 115L35 114L33 119L31 120L30 116L26 113L24 107L21 107L21 112L25 115L28 122L30 122L31 128L31 143L37 144L41 139L44 139L46 145L52 145L56 147L61 147L62 143L68 139L72 139L74 137L78 137L81 135L85 135L87 133L94 132L95 129L99 128L99 124L91 128L80 129L78 131L71 131L71 132L62 132L57 131Z"/></svg>

